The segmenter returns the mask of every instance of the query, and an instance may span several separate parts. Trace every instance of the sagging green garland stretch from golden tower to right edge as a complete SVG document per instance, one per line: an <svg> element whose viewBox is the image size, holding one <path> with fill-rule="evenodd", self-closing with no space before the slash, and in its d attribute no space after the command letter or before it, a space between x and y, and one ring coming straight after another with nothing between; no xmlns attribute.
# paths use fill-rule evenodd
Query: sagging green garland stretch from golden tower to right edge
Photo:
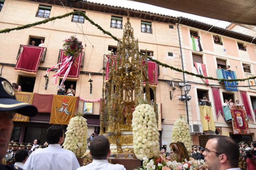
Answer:
<svg viewBox="0 0 256 170"><path fill-rule="evenodd" d="M158 60L155 60L151 57L148 57L151 61L153 62L156 62L157 64L163 66L163 67L166 67L166 68L170 68L172 70L175 70L175 71L178 71L178 72L183 72L185 74L189 74L189 75L192 75L192 76L196 76L196 77L199 77L199 78L202 78L202 79L210 79L210 80L217 80L217 81L227 81L227 82L244 82L245 80L249 80L249 79L255 79L256 76L252 76L252 77L249 77L249 78L246 78L246 79L217 79L217 78L213 78L213 77L204 77L203 75L199 75L199 74L194 74L192 72L188 72L188 71L184 71L184 70L181 70L179 68L175 68L175 67L172 67L172 66L169 66L168 64L164 64L164 63L161 63L159 62Z"/></svg>

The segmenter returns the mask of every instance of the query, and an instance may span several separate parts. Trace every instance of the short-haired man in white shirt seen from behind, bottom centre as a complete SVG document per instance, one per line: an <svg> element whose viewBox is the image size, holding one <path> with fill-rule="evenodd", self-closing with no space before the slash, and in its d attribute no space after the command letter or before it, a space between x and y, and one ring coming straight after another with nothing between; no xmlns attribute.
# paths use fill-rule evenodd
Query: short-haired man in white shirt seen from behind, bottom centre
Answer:
<svg viewBox="0 0 256 170"><path fill-rule="evenodd" d="M110 154L108 139L103 135L98 135L90 142L90 155L93 157L93 162L77 170L126 170L123 165L109 163Z"/></svg>

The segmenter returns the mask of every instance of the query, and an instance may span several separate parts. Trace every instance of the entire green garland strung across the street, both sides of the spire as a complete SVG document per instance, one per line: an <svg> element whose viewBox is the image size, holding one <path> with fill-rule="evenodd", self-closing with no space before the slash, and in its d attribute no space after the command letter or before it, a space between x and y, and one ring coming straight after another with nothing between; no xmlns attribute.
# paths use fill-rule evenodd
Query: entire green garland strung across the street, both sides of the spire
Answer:
<svg viewBox="0 0 256 170"><path fill-rule="evenodd" d="M109 31L106 31L100 25L96 24L93 20L91 20L88 16L86 16L82 11L69 12L69 13L66 13L64 15L54 16L54 17L51 17L51 18L48 18L48 19L45 19L45 20L42 20L42 21L39 21L39 22L35 22L35 23L32 23L32 24L26 24L26 25L23 25L23 26L20 26L20 27L2 29L2 30L0 30L0 33L9 33L9 32L14 31L14 30L21 30L21 29L30 28L30 27L33 27L35 25L45 24L45 23L48 23L49 21L53 21L53 20L56 20L56 19L62 19L64 17L68 17L68 16L74 15L74 14L79 14L79 15L83 16L84 19L89 21L91 24L93 24L95 27L97 27L99 30L101 30L104 34L107 34L107 35L111 36L114 40L116 40L118 42L120 41L119 39L117 39L116 36L113 36ZM159 65L161 65L163 67L170 68L172 70L175 70L175 71L178 71L178 72L183 72L185 74L196 76L196 77L199 77L199 78L202 78L202 79L210 79L210 80L217 80L217 81L227 81L227 82L243 82L245 80L255 79L256 78L256 76L252 76L252 77L249 77L249 78L246 78L246 79L218 79L218 78L213 78L213 77L204 77L203 75L194 74L194 73L189 72L189 71L184 71L184 70L181 70L179 68L175 68L173 66L169 66L168 64L161 63L158 60L155 60L153 58L150 58L150 57L148 57L148 58L151 61L156 62L157 64L159 64Z"/></svg>

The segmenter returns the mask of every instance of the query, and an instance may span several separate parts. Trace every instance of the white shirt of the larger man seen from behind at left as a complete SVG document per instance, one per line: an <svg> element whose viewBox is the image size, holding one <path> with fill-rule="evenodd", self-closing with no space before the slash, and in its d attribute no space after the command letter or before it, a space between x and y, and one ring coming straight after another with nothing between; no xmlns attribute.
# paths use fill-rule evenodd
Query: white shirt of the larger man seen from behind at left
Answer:
<svg viewBox="0 0 256 170"><path fill-rule="evenodd" d="M50 144L44 149L32 152L23 166L25 170L76 170L80 167L75 154Z"/></svg>

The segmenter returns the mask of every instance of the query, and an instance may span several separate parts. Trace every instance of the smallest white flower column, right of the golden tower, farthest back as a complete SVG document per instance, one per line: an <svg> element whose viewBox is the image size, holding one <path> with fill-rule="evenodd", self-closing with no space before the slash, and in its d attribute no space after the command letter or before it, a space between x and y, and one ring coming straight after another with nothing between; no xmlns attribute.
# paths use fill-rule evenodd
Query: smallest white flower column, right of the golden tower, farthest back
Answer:
<svg viewBox="0 0 256 170"><path fill-rule="evenodd" d="M173 126L172 142L182 142L187 148L187 151L191 151L191 136L189 133L189 126L187 120L184 118L178 118Z"/></svg>

